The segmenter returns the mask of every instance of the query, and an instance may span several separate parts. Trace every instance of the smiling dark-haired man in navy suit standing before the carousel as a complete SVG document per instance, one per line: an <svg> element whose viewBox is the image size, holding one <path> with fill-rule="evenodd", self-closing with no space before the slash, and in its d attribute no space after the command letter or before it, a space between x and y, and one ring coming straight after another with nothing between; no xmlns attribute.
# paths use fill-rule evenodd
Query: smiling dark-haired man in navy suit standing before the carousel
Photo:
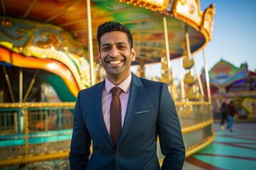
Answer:
<svg viewBox="0 0 256 170"><path fill-rule="evenodd" d="M130 31L120 23L99 26L97 41L106 76L78 93L70 169L160 169L157 136L165 155L161 169L182 169L185 148L181 126L166 84L132 74L130 66L136 52ZM115 86L122 89L122 130L117 139L112 137L110 127L110 91Z"/></svg>

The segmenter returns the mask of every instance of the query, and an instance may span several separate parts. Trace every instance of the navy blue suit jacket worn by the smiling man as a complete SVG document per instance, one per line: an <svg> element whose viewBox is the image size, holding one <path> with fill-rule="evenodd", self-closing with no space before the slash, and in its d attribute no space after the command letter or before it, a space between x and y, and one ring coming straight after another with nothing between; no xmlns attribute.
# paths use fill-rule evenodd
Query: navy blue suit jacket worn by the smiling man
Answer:
<svg viewBox="0 0 256 170"><path fill-rule="evenodd" d="M161 169L182 169L185 148L181 126L166 84L132 74L127 113L117 146L103 118L103 88L105 81L78 93L70 169L160 169L156 154L158 135L165 155Z"/></svg>

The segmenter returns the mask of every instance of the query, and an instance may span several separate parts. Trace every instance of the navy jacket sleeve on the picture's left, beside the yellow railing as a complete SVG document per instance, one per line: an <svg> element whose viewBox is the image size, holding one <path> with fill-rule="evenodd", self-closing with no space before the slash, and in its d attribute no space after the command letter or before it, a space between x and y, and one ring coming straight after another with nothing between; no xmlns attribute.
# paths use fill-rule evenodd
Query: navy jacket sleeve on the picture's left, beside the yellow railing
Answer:
<svg viewBox="0 0 256 170"><path fill-rule="evenodd" d="M90 157L91 137L85 126L80 106L80 93L75 104L73 135L70 145L70 169L86 169Z"/></svg>

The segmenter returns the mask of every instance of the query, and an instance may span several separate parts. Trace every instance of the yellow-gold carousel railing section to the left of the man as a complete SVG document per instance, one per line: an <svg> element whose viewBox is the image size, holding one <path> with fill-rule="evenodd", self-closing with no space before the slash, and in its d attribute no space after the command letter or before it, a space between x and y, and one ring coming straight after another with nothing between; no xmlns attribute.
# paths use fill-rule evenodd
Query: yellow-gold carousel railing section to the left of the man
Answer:
<svg viewBox="0 0 256 170"><path fill-rule="evenodd" d="M75 103L0 103L0 166L68 157Z"/></svg>

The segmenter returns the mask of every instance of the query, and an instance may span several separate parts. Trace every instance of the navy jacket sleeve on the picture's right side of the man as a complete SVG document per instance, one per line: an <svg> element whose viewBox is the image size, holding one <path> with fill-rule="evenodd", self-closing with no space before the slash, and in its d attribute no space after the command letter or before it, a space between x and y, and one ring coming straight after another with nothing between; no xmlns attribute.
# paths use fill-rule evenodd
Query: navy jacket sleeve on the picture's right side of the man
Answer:
<svg viewBox="0 0 256 170"><path fill-rule="evenodd" d="M178 120L174 100L166 86L161 88L159 98L158 132L161 152L164 154L164 162L161 169L182 169L185 160L185 147L181 133L181 125Z"/></svg>

